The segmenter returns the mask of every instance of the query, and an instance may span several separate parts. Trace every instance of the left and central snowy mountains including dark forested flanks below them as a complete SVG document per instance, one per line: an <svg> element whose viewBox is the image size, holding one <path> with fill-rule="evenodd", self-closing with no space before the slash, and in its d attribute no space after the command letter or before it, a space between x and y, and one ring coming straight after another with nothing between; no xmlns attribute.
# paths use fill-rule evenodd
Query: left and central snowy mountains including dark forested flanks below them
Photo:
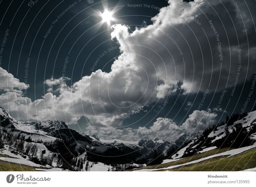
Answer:
<svg viewBox="0 0 256 187"><path fill-rule="evenodd" d="M51 146L54 143L58 144L59 147L66 146L71 154L77 155L81 160L86 158L90 161L107 164L113 164L115 162L117 164L147 163L156 154L163 154L165 156L166 151L173 144L166 140L159 140L158 138L137 141L122 139L103 140L95 135L80 134L73 129L69 129L65 122L58 120L23 123L15 120L2 107L0 108L0 126L2 130L7 129L4 131L6 131L8 136L17 136L21 132L19 136L26 135L26 140L28 139L28 142L36 143L37 147L41 146L39 144L45 144L44 150L46 151L58 152L58 150ZM12 131L8 129L12 129ZM45 142L44 139L47 139L47 141ZM58 141L58 143L55 141ZM55 146L54 144L53 147ZM40 151L43 150L40 149ZM96 154L98 156L95 156Z"/></svg>

